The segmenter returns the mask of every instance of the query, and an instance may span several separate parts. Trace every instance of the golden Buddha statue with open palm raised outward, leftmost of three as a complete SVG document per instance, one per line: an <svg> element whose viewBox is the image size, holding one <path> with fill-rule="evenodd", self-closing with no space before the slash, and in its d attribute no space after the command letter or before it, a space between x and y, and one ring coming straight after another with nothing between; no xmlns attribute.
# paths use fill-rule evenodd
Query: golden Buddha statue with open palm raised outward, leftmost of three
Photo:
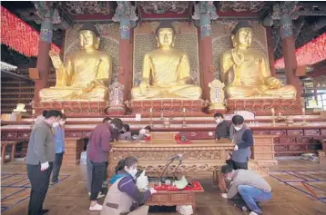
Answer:
<svg viewBox="0 0 326 215"><path fill-rule="evenodd" d="M57 54L50 54L56 68L56 86L40 91L41 102L107 101L111 56L97 50L100 37L94 25L84 24L79 40L82 50L68 56L65 65Z"/></svg>

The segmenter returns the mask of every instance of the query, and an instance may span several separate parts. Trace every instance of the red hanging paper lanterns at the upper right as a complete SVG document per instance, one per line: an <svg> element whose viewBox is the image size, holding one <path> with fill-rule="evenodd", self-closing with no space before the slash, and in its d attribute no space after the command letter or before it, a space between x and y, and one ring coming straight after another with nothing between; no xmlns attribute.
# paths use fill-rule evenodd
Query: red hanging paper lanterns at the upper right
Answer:
<svg viewBox="0 0 326 215"><path fill-rule="evenodd" d="M308 44L302 45L295 51L298 65L311 65L326 59L326 33L312 40ZM275 62L276 69L285 67L284 58Z"/></svg>

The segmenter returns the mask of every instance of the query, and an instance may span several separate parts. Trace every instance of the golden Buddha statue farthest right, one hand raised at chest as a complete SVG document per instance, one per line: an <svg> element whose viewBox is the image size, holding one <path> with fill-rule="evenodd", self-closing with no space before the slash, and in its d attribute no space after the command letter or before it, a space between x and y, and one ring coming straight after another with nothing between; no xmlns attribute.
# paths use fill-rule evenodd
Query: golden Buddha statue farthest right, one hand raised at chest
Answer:
<svg viewBox="0 0 326 215"><path fill-rule="evenodd" d="M219 69L222 82L226 84L227 96L231 99L296 97L292 85L284 85L271 76L265 54L251 49L252 26L239 22L232 31L233 49L221 54Z"/></svg>

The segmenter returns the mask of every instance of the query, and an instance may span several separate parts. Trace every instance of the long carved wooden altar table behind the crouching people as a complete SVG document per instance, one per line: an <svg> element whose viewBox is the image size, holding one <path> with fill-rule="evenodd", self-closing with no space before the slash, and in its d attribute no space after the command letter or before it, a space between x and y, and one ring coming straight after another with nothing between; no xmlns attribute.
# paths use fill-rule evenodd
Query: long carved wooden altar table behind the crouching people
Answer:
<svg viewBox="0 0 326 215"><path fill-rule="evenodd" d="M114 174L118 161L129 155L138 157L138 166L149 175L158 177L167 164L168 158L183 154L182 164L178 172L208 172L219 170L225 164L226 154L232 151L234 145L229 141L193 140L192 143L178 144L171 140L153 140L150 142L114 142L109 152L107 167L108 176ZM173 172L178 162L173 162L168 171ZM268 169L263 168L258 161L250 161L250 170L268 175Z"/></svg>

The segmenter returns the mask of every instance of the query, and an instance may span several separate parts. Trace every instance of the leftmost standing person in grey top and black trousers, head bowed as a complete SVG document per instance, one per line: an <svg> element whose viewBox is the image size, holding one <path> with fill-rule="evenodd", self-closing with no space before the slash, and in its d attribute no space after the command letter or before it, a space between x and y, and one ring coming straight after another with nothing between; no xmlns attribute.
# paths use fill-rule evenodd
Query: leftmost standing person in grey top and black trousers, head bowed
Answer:
<svg viewBox="0 0 326 215"><path fill-rule="evenodd" d="M55 139L51 128L61 116L62 113L56 110L46 112L45 120L36 124L29 137L25 161L32 186L28 215L41 215L48 211L43 209L43 202L46 199L52 163L56 158Z"/></svg>

